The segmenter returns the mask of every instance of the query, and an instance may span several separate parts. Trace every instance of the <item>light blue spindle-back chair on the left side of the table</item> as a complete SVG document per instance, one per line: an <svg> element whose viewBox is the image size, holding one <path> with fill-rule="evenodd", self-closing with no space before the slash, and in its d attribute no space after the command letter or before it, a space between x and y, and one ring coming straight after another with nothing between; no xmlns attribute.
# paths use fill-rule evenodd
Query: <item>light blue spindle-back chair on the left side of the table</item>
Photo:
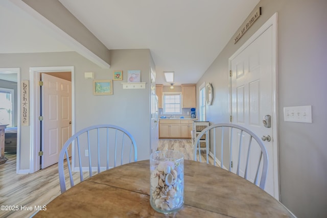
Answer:
<svg viewBox="0 0 327 218"><path fill-rule="evenodd" d="M133 161L137 161L136 142L125 129L106 124L84 128L70 137L60 151L61 193L66 191L66 178L69 177L70 186L74 186L72 172L79 172L81 182L84 180L83 172L89 172L85 176L89 178L95 172Z"/></svg>

